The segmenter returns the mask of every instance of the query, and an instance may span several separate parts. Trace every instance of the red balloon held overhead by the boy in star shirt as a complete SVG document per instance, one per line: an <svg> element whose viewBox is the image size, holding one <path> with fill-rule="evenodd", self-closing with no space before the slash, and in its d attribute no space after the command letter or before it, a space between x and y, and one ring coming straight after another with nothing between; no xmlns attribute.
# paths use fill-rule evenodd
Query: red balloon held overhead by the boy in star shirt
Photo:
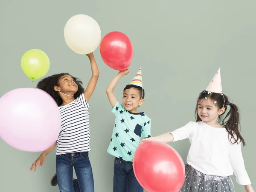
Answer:
<svg viewBox="0 0 256 192"><path fill-rule="evenodd" d="M131 65L134 50L131 40L119 31L105 35L99 46L103 61L111 68L125 71Z"/></svg>

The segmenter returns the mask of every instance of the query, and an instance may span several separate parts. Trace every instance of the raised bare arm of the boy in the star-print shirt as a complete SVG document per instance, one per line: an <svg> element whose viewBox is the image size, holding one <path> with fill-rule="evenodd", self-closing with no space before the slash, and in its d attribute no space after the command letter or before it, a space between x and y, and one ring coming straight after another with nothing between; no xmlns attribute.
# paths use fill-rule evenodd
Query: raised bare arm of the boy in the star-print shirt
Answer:
<svg viewBox="0 0 256 192"><path fill-rule="evenodd" d="M116 96L113 93L114 88L116 87L116 84L119 82L122 76L127 75L129 72L130 72L129 69L127 69L126 71L119 71L119 73L117 73L117 75L114 77L114 79L110 82L110 84L106 88L108 100L112 107L114 107L117 102Z"/></svg>

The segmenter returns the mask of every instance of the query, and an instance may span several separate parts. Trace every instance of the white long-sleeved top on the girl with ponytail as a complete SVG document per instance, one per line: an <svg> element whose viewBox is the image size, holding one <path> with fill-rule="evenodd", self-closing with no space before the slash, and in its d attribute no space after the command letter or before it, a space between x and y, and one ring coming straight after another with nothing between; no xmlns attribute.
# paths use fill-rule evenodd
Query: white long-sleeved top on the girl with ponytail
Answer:
<svg viewBox="0 0 256 192"><path fill-rule="evenodd" d="M204 121L190 121L171 131L174 141L189 138L187 164L206 175L230 176L235 173L240 185L251 184L244 166L241 142L232 144L224 128L211 127Z"/></svg>

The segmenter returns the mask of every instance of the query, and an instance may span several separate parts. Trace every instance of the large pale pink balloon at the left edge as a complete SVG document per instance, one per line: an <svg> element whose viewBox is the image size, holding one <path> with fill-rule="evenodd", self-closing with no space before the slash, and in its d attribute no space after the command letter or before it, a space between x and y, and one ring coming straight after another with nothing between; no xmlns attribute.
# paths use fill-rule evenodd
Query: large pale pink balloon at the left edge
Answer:
<svg viewBox="0 0 256 192"><path fill-rule="evenodd" d="M18 88L0 98L0 136L23 151L44 151L58 138L61 117L58 105L38 88Z"/></svg>

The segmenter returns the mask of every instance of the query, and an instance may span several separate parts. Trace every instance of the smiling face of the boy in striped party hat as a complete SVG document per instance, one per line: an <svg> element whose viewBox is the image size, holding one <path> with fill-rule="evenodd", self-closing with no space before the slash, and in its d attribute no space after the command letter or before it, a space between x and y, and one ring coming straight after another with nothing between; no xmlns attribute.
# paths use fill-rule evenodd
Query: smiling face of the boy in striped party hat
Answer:
<svg viewBox="0 0 256 192"><path fill-rule="evenodd" d="M144 99L140 97L140 91L136 88L125 89L123 94L122 105L125 110L131 113L138 113L137 108L144 103Z"/></svg>

